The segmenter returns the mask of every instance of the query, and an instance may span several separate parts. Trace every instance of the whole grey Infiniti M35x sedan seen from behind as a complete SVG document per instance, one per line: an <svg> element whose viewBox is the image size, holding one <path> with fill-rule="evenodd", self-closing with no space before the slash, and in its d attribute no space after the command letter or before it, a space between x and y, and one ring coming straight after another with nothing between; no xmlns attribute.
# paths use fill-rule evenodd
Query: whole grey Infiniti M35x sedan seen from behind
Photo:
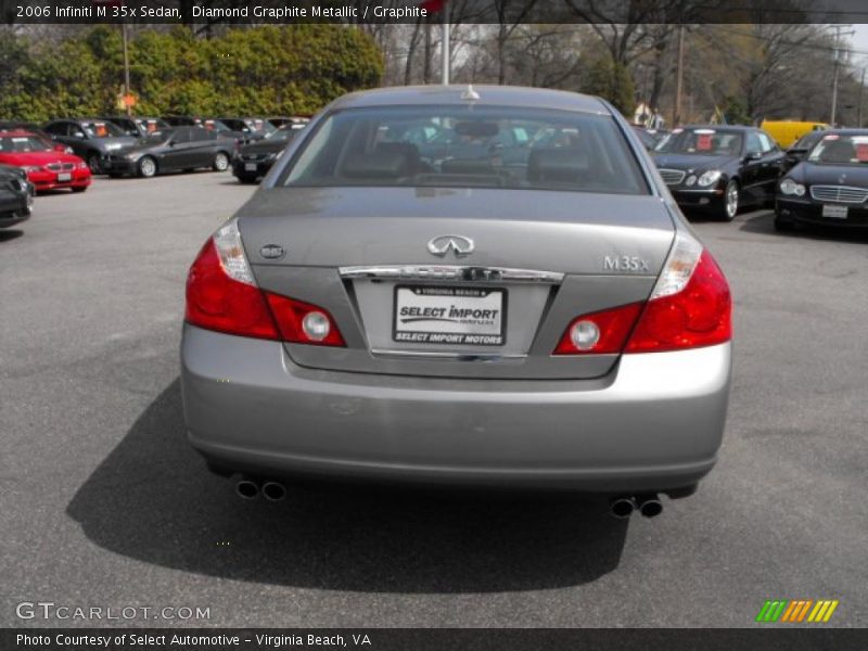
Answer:
<svg viewBox="0 0 868 651"><path fill-rule="evenodd" d="M715 462L730 309L601 100L350 94L190 269L187 429L244 497L326 474L563 486L653 515Z"/></svg>

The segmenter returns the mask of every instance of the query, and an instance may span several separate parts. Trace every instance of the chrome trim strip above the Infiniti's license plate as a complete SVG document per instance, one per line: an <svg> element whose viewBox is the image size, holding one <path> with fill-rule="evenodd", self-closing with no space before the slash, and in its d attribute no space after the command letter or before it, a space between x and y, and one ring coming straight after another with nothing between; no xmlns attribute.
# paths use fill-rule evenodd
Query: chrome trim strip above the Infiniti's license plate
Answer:
<svg viewBox="0 0 868 651"><path fill-rule="evenodd" d="M342 278L375 278L382 280L438 280L454 282L510 282L558 284L563 273L508 267L476 267L461 265L375 265L371 267L340 267Z"/></svg>

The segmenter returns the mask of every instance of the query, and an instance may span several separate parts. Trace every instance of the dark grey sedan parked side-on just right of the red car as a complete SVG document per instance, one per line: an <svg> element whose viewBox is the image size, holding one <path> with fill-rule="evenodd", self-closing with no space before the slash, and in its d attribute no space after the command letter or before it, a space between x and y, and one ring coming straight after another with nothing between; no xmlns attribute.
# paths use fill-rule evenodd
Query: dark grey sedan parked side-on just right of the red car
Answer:
<svg viewBox="0 0 868 651"><path fill-rule="evenodd" d="M164 171L229 167L234 141L200 127L176 127L158 131L139 144L111 154L104 161L113 177L152 177Z"/></svg>

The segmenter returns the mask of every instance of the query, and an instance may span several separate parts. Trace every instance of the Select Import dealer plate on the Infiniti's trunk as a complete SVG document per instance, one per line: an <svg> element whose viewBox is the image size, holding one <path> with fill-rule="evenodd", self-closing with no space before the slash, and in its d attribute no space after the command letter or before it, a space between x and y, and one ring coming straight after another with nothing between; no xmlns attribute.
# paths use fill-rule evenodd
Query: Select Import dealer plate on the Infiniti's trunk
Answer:
<svg viewBox="0 0 868 651"><path fill-rule="evenodd" d="M502 346L507 291L397 286L392 337L411 344Z"/></svg>

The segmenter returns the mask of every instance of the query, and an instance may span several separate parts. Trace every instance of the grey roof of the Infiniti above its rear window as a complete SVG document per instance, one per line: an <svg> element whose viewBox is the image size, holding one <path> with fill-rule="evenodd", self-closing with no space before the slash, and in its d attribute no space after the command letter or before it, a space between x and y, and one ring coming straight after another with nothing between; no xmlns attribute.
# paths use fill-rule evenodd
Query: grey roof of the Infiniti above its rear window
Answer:
<svg viewBox="0 0 868 651"><path fill-rule="evenodd" d="M611 115L611 111L599 98L564 90L526 88L522 86L473 86L477 100L468 100L471 87L452 86L400 86L380 88L346 94L335 100L333 110L369 106L454 104L474 102L478 105L506 105L533 108L556 108ZM464 97L462 97L464 95Z"/></svg>

